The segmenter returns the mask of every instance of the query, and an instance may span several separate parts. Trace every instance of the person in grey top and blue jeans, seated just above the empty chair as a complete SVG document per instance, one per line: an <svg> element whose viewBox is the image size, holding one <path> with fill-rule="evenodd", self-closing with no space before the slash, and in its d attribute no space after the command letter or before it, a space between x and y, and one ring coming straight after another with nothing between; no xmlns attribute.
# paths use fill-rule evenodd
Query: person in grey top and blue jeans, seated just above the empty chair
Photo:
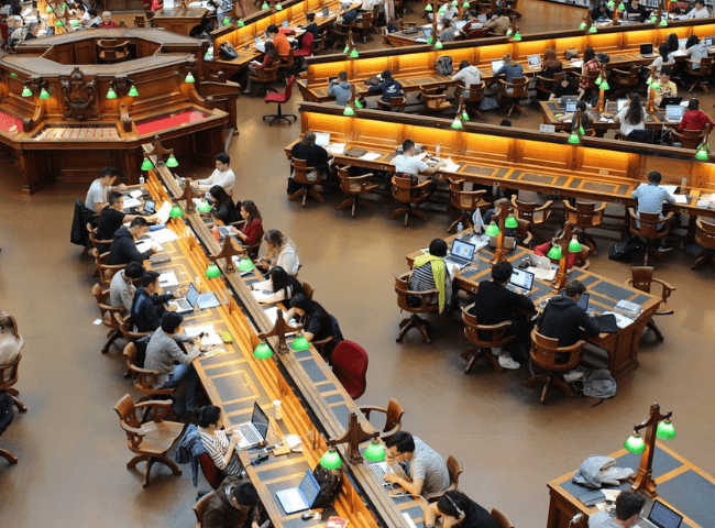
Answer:
<svg viewBox="0 0 715 528"><path fill-rule="evenodd" d="M186 380L186 404L188 413L196 413L196 389L199 385L199 375L194 369L194 360L201 355L196 346L198 336L194 339L182 333L184 318L178 314L169 312L162 321L161 328L152 334L146 345L144 369L158 371L154 388L174 388ZM193 342L194 346L185 350L184 343ZM184 402L176 399L177 408L183 410ZM177 415L185 413L178 411Z"/></svg>

